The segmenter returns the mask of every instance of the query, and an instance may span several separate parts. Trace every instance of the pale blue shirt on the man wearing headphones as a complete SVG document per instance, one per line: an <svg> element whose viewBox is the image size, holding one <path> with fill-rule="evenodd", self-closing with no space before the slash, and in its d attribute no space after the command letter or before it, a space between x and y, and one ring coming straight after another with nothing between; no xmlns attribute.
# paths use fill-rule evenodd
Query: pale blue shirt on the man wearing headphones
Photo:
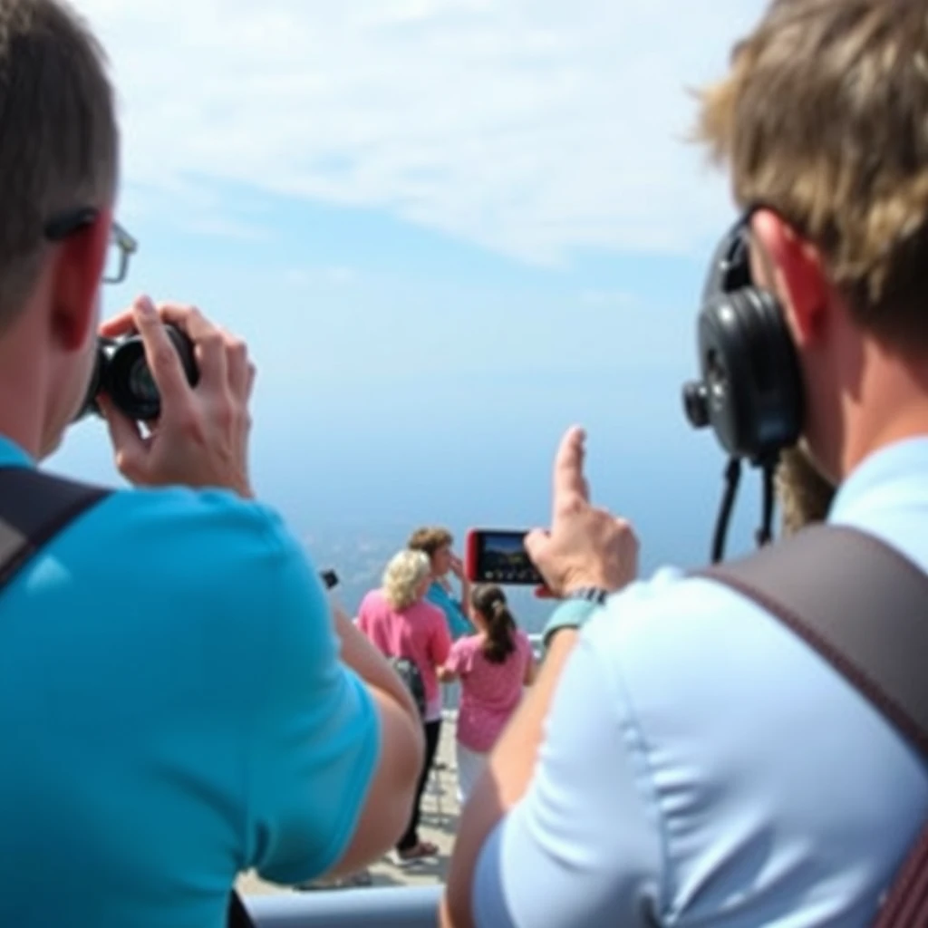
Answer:
<svg viewBox="0 0 928 928"><path fill-rule="evenodd" d="M928 439L865 461L830 521L928 570ZM844 677L728 587L665 570L581 632L528 792L479 857L476 921L863 928L926 816L922 760Z"/></svg>

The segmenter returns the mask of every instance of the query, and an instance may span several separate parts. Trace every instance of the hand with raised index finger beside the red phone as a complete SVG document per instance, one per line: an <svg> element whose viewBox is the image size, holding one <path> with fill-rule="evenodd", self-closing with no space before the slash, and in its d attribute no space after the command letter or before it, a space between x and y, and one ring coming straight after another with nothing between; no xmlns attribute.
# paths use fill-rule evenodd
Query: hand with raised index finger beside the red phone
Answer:
<svg viewBox="0 0 928 928"><path fill-rule="evenodd" d="M548 589L566 596L584 586L613 592L638 575L638 538L629 522L590 504L581 429L561 440L554 461L551 528L525 537L525 549Z"/></svg>

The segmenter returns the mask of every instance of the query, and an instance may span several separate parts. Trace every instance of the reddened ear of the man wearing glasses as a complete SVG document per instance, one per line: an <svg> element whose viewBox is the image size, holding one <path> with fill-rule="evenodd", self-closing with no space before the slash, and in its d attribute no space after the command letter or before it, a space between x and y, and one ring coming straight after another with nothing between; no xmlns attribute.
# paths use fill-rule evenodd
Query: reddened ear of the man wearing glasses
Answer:
<svg viewBox="0 0 928 928"><path fill-rule="evenodd" d="M88 226L78 229L55 246L52 267L52 331L67 352L79 351L97 324L99 293L112 212L103 210Z"/></svg>

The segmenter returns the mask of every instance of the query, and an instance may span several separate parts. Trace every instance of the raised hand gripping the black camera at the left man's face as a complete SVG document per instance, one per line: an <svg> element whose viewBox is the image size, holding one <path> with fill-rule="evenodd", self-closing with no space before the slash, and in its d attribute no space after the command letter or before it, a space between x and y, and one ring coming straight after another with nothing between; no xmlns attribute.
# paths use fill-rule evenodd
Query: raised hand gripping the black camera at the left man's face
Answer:
<svg viewBox="0 0 928 928"><path fill-rule="evenodd" d="M196 389L187 382L165 322L193 342L200 367ZM105 323L101 334L118 338L132 331L145 345L161 393L161 417L146 436L106 396L100 397L122 475L136 485L224 487L250 497L248 403L255 370L245 343L193 307L168 303L156 309L148 297L139 297L130 310Z"/></svg>

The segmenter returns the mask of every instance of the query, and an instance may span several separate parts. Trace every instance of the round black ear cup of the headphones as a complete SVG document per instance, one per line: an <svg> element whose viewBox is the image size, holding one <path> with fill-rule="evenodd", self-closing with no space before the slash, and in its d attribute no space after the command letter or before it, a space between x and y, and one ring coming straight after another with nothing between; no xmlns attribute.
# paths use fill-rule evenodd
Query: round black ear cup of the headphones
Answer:
<svg viewBox="0 0 928 928"><path fill-rule="evenodd" d="M776 298L745 287L702 307L699 353L708 419L731 457L761 463L799 440L803 386Z"/></svg>

